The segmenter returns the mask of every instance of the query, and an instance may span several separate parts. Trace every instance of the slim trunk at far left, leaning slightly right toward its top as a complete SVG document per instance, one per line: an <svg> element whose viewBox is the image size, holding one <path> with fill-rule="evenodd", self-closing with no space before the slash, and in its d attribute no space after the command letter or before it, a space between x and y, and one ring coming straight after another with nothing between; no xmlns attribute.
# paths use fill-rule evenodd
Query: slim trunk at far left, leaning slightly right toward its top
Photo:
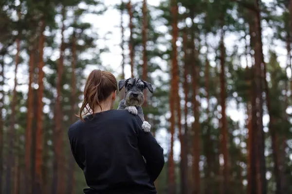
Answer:
<svg viewBox="0 0 292 194"><path fill-rule="evenodd" d="M7 156L7 170L6 170L6 181L8 183L6 187L6 194L11 194L11 188L14 188L14 181L12 180L12 168L15 165L15 114L16 114L16 100L17 100L17 70L19 64L19 44L20 40L16 40L17 44L17 53L15 57L15 78L14 78L14 88L12 92L12 100L11 100L11 117L10 117L10 130L8 132L8 141L9 141L9 149L8 149L8 156Z"/></svg>

